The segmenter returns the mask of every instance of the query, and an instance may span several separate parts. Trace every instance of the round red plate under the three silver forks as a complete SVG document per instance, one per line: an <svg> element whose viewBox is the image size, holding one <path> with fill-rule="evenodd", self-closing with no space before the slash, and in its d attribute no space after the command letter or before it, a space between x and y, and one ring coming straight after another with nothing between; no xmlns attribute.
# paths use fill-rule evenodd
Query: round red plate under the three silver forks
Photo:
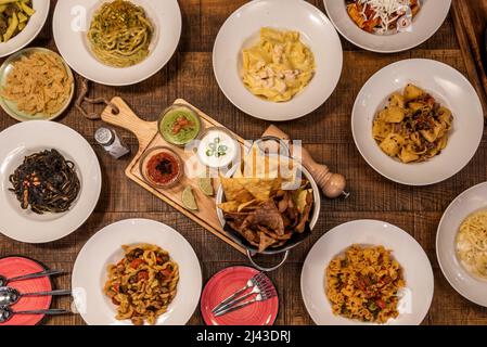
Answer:
<svg viewBox="0 0 487 347"><path fill-rule="evenodd" d="M245 286L247 281L258 272L249 267L230 267L209 279L203 290L200 305L205 323L207 325L272 325L279 312L278 297L255 303L221 317L215 317L212 312L215 306Z"/></svg>

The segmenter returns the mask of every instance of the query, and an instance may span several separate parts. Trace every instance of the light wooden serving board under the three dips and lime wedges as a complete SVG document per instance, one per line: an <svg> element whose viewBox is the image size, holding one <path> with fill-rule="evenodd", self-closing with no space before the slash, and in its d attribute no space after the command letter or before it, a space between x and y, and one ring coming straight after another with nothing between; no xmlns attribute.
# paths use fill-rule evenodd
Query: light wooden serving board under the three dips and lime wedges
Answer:
<svg viewBox="0 0 487 347"><path fill-rule="evenodd" d="M133 113L132 110L130 110L130 107L120 98L114 98L112 100L112 103L118 107L119 113L116 115L113 114L112 107L108 106L103 111L101 115L102 120L107 124L121 127L124 129L133 132L133 134L139 140L139 151L133 157L132 162L127 167L127 169L125 170L127 177L132 181L134 181L136 183L138 183L139 185L146 189L148 191L150 191L158 198L163 200L165 203L176 208L181 214L185 215L191 220L195 221L196 223L198 223L200 226L212 232L217 237L221 239L229 245L233 246L235 249L245 254L245 248L243 248L241 245L236 244L233 240L231 240L227 235L227 233L222 230L216 213L215 197L204 195L197 187L196 179L189 179L188 177L183 177L180 184L176 185L175 188L166 190L156 189L146 183L139 169L141 156L146 150L161 145L169 146L181 156L183 162L185 162L190 157L190 154L185 153L184 149L167 143L157 131L157 121L142 120ZM202 128L223 127L221 124L219 124L208 115L201 112L197 107L194 107L193 105L191 105L190 103L188 103L182 99L176 100L175 103L187 104L196 110L202 119L202 125L204 126ZM232 134L243 146L244 140L233 132ZM193 192L195 194L198 206L197 211L190 211L185 209L184 206L182 205L181 202L182 191L188 185L192 185L193 188ZM216 189L218 185L219 182L217 179L215 179L214 188Z"/></svg>

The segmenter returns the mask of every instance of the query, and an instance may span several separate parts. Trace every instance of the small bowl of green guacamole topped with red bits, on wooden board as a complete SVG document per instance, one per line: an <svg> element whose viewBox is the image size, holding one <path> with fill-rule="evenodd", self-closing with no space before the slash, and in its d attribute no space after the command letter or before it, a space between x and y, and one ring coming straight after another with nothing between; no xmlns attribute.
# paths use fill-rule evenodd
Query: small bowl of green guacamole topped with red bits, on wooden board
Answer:
<svg viewBox="0 0 487 347"><path fill-rule="evenodd" d="M174 104L161 115L158 130L169 143L184 146L197 138L202 124L196 111L188 105Z"/></svg>

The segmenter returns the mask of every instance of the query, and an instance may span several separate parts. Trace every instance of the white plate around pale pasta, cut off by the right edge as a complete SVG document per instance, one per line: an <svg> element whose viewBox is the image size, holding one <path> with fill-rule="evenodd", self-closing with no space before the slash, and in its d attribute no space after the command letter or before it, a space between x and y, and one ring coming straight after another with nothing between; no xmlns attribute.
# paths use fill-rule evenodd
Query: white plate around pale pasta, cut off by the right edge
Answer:
<svg viewBox="0 0 487 347"><path fill-rule="evenodd" d="M487 209L487 182L464 191L445 210L436 234L436 256L451 286L472 303L487 307L487 281L463 268L457 258L454 242L463 220L482 209Z"/></svg>

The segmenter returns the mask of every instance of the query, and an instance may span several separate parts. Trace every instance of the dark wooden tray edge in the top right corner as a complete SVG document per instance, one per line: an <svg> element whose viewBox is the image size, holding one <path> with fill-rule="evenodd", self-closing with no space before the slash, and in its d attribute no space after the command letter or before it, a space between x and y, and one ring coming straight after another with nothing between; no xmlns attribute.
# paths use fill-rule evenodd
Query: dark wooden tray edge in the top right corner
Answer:
<svg viewBox="0 0 487 347"><path fill-rule="evenodd" d="M451 14L469 79L476 89L487 116L487 75L484 65L487 60L483 52L487 0L453 0Z"/></svg>

